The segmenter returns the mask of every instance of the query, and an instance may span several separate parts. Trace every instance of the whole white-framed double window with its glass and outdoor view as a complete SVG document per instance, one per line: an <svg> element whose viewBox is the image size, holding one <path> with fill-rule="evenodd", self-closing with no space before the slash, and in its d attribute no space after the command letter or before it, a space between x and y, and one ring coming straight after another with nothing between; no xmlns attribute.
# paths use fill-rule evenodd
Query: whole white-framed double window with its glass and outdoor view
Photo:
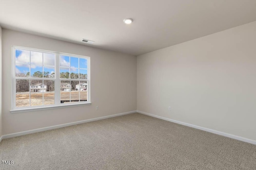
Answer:
<svg viewBox="0 0 256 170"><path fill-rule="evenodd" d="M90 103L90 57L12 46L12 109Z"/></svg>

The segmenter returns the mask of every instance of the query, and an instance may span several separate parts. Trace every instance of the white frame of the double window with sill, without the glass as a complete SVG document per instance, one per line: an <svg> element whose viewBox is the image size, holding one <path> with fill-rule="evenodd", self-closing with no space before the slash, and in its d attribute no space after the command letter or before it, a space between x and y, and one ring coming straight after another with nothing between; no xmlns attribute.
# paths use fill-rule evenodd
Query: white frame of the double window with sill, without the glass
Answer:
<svg viewBox="0 0 256 170"><path fill-rule="evenodd" d="M16 56L15 56L15 49L24 49L30 51L38 51L43 53L54 53L55 54L55 77L54 78L39 78L39 77L22 77L20 79L38 79L38 80L54 80L54 105L41 105L41 106L28 106L28 107L16 107ZM87 81L87 101L79 101L74 103L60 103L60 81L65 79L60 79L60 55L66 55L70 57L79 57L87 59L87 79L72 79L72 81ZM70 79L66 79L70 80ZM30 85L31 86L31 85ZM77 107L77 106L84 106L84 105L91 105L90 103L90 57L83 56L83 55L74 55L69 53L61 53L56 51L48 51L42 49L34 49L28 47L20 47L12 45L12 109L10 110L11 113L22 113L28 111L40 111L40 110L48 110L48 109L58 109L64 107Z"/></svg>

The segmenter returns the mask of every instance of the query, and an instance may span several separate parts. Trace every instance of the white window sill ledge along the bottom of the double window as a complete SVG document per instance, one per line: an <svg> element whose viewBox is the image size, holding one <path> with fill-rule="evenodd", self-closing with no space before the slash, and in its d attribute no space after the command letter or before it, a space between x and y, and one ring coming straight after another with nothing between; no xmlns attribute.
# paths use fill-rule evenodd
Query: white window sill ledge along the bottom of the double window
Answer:
<svg viewBox="0 0 256 170"><path fill-rule="evenodd" d="M45 107L36 107L36 108L23 108L23 109L12 109L10 110L11 113L23 113L23 112L33 112L33 111L43 111L43 110L50 110L50 109L60 109L66 107L79 107L79 106L87 106L91 105L92 103L77 103L72 105L56 105L56 106L45 106Z"/></svg>

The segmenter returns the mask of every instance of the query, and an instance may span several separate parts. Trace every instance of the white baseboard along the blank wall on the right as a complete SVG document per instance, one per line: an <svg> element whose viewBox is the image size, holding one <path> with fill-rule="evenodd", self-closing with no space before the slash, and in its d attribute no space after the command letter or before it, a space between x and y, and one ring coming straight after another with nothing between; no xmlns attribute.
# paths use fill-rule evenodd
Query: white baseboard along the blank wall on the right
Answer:
<svg viewBox="0 0 256 170"><path fill-rule="evenodd" d="M153 114L142 112L142 111L137 111L137 113L141 113L141 114L148 115L148 116L151 116L151 117L156 117L158 119L163 119L165 121L169 121L169 122L173 122L173 123L178 123L180 125L184 125L184 126L187 126L187 127L197 128L197 129L200 129L200 130L204 130L206 132L211 132L211 133L214 133L214 134L219 134L221 136L226 136L228 138L233 138L233 139L236 139L236 140L241 140L243 142L247 142L247 143L255 144L256 145L256 140L252 140L252 139L248 139L248 138L243 138L241 136L236 136L236 135L233 135L233 134L228 134L228 133L225 133L225 132L220 132L220 131L217 131L217 130L213 130L213 129L210 129L210 128L204 128L204 127L192 125L192 124L189 124L189 123L175 121L173 119L168 119L168 118L165 118L165 117L153 115Z"/></svg>

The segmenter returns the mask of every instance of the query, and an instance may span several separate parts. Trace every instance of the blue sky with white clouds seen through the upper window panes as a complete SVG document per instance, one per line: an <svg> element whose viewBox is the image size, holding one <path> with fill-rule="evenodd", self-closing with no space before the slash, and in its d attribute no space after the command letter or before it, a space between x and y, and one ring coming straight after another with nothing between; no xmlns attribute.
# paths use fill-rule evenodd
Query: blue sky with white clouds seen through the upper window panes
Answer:
<svg viewBox="0 0 256 170"><path fill-rule="evenodd" d="M55 55L53 53L42 53L23 49L15 49L16 73L27 74L29 67L31 75L36 71L54 73ZM79 63L79 64L78 64ZM60 73L82 73L87 74L87 59L60 55Z"/></svg>

